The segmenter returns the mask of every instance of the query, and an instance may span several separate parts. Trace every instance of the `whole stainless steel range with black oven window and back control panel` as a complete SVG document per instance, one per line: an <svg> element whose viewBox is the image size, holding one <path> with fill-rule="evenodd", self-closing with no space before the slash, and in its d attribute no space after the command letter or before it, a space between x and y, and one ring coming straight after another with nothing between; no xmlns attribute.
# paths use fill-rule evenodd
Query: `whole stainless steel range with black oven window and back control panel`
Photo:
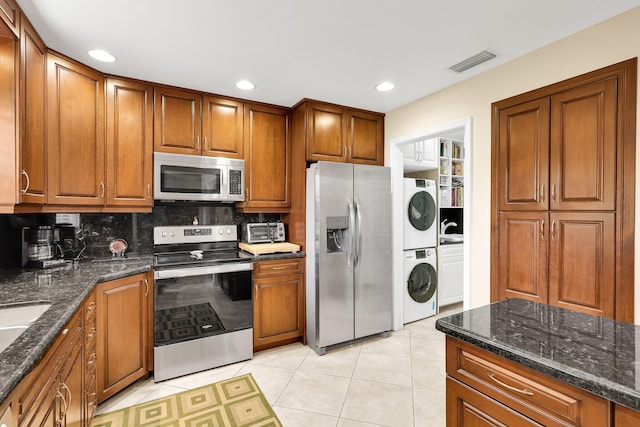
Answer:
<svg viewBox="0 0 640 427"><path fill-rule="evenodd" d="M235 225L154 227L154 379L253 355L250 255Z"/></svg>

